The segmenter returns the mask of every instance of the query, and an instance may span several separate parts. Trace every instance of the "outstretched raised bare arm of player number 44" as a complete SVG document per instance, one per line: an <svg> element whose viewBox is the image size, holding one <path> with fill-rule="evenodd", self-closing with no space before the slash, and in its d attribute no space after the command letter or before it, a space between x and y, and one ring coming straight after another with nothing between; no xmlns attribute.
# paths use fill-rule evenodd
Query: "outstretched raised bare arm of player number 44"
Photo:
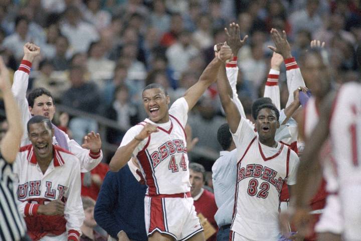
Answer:
<svg viewBox="0 0 361 241"><path fill-rule="evenodd" d="M214 58L209 65L207 65L206 69L203 71L201 77L193 86L191 86L184 95L188 103L189 110L195 106L198 102L199 98L203 95L203 93L207 90L207 88L213 84L217 79L217 72L222 61L226 61L232 57L232 51L225 51L222 55L219 55L218 58ZM129 159L128 159L129 160Z"/></svg>

